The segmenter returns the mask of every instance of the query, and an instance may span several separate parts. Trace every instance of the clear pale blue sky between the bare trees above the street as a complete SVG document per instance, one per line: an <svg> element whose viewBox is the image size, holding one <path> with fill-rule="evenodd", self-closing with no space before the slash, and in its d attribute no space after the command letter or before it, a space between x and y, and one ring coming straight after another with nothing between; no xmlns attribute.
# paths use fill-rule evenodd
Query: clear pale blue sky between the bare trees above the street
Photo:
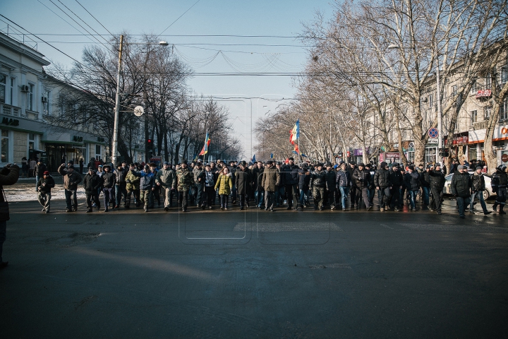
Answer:
<svg viewBox="0 0 508 339"><path fill-rule="evenodd" d="M87 25L106 39L109 32L162 33L160 40L174 44L168 48L174 48L194 70L195 76L188 81L193 93L212 95L228 107L234 136L243 143L245 160L250 160L256 143L252 133L255 122L296 94L294 79L280 75L303 71L306 47L296 36L301 34L303 23L313 20L316 11L325 13L325 17L332 13L330 1L0 0L0 13L77 60L87 44L99 44L85 36L84 28L94 33ZM6 20L0 19L0 30L5 32ZM104 42L101 37L97 39ZM71 66L72 60L66 55L35 37L32 40L37 41L38 51L49 61Z"/></svg>

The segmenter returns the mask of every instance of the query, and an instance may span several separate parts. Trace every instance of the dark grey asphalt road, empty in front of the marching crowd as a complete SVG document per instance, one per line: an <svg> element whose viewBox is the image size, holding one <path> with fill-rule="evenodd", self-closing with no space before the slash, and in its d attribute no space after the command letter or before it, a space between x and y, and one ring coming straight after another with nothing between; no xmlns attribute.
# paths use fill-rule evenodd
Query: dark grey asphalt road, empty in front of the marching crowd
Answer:
<svg viewBox="0 0 508 339"><path fill-rule="evenodd" d="M11 203L0 338L507 338L506 216L63 208Z"/></svg>

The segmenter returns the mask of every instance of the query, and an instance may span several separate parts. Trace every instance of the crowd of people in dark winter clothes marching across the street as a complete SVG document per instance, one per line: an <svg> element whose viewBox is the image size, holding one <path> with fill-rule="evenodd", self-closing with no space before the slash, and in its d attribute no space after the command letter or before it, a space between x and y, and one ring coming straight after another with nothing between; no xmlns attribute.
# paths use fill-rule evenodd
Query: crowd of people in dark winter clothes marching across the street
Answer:
<svg viewBox="0 0 508 339"><path fill-rule="evenodd" d="M454 164L450 172L452 194L456 197L459 215L465 218L465 210L474 213L475 199L480 201L483 213L487 210L483 198L485 170L477 164L473 173L468 167ZM432 210L442 213L445 184L439 163L406 165L397 162L373 164L340 162L303 162L296 165L294 158L285 162L247 163L221 160L203 164L202 161L183 161L173 167L164 162L162 168L151 163L140 165L126 162L111 165L89 164L83 178L72 163L61 164L58 169L63 177L66 211L78 210L77 190L83 185L86 194L86 212L104 208L104 212L119 208L143 208L145 212L155 208L179 208L183 212L189 206L201 209L229 210L238 205L240 210L259 208L273 211L287 210L371 210L374 197L380 211L408 209ZM507 196L507 172L501 165L492 176L492 190L497 193L494 210L504 213ZM43 212L49 213L54 179L45 171L37 181L38 200ZM102 199L99 196L102 195ZM313 206L310 205L313 202ZM123 203L123 206L122 206ZM418 207L417 207L418 206Z"/></svg>

